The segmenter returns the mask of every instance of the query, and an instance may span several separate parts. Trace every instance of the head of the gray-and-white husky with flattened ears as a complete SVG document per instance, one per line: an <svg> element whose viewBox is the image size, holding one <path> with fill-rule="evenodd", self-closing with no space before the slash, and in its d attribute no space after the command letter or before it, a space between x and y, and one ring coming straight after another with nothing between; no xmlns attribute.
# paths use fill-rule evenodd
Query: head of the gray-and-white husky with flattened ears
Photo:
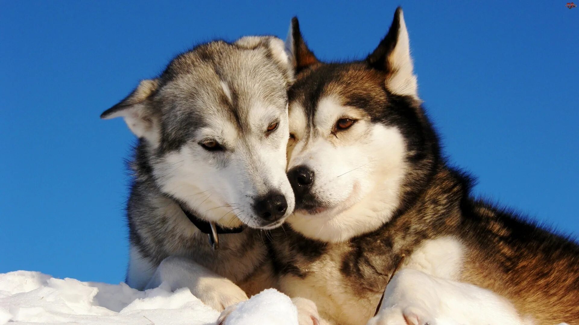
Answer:
<svg viewBox="0 0 579 325"><path fill-rule="evenodd" d="M101 118L124 118L141 170L197 216L270 228L294 209L285 175L292 81L282 40L215 41L174 58Z"/></svg>

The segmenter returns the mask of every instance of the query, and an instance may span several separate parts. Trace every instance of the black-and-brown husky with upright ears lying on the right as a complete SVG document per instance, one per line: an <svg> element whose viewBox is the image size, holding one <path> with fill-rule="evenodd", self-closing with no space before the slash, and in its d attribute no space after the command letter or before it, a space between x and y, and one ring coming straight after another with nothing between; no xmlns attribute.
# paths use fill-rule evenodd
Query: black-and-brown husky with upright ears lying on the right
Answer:
<svg viewBox="0 0 579 325"><path fill-rule="evenodd" d="M498 294L536 324L579 324L579 246L472 198L422 108L402 10L361 61L320 62L297 20L291 35L296 208L291 227L273 231L280 289L314 301L332 323L364 324L401 264ZM400 313L402 324L437 323L424 310ZM374 324L399 324L387 316Z"/></svg>

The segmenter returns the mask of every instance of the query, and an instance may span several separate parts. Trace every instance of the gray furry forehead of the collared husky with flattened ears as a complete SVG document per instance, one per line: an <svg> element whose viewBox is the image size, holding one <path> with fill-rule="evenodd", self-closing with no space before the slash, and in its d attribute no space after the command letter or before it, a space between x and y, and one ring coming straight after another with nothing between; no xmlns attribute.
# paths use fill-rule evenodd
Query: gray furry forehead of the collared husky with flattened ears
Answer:
<svg viewBox="0 0 579 325"><path fill-rule="evenodd" d="M258 49L226 49L184 54L167 69L157 99L175 128L231 123L245 132L259 117L284 112L286 83L273 62Z"/></svg>

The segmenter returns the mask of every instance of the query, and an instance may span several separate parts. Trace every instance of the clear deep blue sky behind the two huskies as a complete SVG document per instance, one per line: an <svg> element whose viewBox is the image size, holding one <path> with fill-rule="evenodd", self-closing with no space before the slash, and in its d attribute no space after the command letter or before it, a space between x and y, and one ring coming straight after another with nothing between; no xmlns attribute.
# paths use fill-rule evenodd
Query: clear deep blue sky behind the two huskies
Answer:
<svg viewBox="0 0 579 325"><path fill-rule="evenodd" d="M361 58L401 4L419 91L477 194L579 234L579 8L565 1L5 1L0 10L0 272L118 283L123 160L100 113L195 43L285 37L298 14L326 60Z"/></svg>

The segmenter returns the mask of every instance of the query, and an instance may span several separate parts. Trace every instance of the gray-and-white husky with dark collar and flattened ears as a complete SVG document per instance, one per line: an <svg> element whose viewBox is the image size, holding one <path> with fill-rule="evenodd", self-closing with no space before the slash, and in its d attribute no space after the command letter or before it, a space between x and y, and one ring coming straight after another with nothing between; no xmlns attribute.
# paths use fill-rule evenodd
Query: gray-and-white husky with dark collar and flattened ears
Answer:
<svg viewBox="0 0 579 325"><path fill-rule="evenodd" d="M138 137L127 284L189 287L218 310L273 286L259 229L294 210L285 174L293 78L282 40L217 40L102 113Z"/></svg>

